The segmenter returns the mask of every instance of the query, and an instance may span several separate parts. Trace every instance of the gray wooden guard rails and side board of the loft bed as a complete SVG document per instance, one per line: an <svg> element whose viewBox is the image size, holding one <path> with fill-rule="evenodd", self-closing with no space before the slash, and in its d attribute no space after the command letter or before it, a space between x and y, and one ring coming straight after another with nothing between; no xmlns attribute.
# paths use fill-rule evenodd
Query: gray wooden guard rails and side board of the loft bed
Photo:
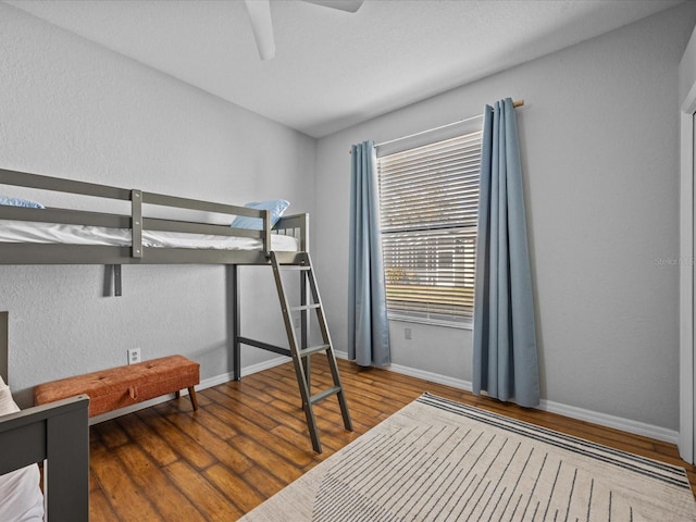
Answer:
<svg viewBox="0 0 696 522"><path fill-rule="evenodd" d="M117 188L108 185L8 171L4 169L0 169L0 185L13 185L129 201L132 209L129 214L124 215L58 208L32 209L0 206L0 220L105 226L112 228L130 228L133 231L132 247L0 244L0 264L270 264L272 231L271 212L268 210L256 210L246 207L178 198L137 189ZM260 217L262 219L263 229L251 231L248 228L233 228L226 224L221 225L148 217L142 213L142 207L147 204L170 209L228 214L231 215L231 222L232 216L235 215ZM145 247L142 246L144 229L252 237L261 239L263 241L263 248L261 250L219 250ZM299 240L299 251L309 250L308 214L281 217L274 227L274 232L295 235ZM282 263L295 264L298 262L297 252L278 251L276 252L276 257Z"/></svg>

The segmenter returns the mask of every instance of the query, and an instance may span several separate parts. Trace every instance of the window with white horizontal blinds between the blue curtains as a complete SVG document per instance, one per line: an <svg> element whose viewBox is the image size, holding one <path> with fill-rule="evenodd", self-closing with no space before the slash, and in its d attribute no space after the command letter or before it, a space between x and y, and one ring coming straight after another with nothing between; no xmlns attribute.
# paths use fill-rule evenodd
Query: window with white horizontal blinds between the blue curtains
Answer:
<svg viewBox="0 0 696 522"><path fill-rule="evenodd" d="M389 319L473 316L481 132L377 159Z"/></svg>

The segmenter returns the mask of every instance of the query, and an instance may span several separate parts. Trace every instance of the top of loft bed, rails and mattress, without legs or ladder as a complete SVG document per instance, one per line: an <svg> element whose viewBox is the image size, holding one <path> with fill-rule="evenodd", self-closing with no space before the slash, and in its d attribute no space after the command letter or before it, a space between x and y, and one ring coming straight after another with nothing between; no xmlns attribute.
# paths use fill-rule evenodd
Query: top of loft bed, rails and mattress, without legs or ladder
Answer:
<svg viewBox="0 0 696 522"><path fill-rule="evenodd" d="M296 264L299 252L308 250L307 214L273 216L269 210L3 169L0 185L125 201L130 206L130 212L124 214L47 208L40 203L1 204L0 234L4 237L0 237L0 264L270 264L272 250L278 262ZM147 207L229 215L229 222L151 217L144 212ZM258 229L231 226L237 216L257 220ZM284 237L295 238L295 245ZM229 244L224 245L225 240ZM278 248L274 248L275 243Z"/></svg>

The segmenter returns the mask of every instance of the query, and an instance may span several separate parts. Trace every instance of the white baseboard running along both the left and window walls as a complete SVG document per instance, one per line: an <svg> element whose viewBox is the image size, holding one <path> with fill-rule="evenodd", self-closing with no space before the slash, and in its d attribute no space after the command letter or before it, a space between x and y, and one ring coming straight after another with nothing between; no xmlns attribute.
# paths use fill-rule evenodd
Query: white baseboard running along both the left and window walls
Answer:
<svg viewBox="0 0 696 522"><path fill-rule="evenodd" d="M335 355L338 359L346 359L346 360L348 359L348 353L345 351L335 351ZM269 361L263 361L258 364L252 364L251 366L246 366L241 369L241 376L244 377L245 375L251 375L253 373L277 366L287 361L288 361L287 357L279 356ZM400 373L402 375L409 375L411 377L421 378L423 381L430 381L436 384L443 384L445 386L451 386L452 388L463 389L465 391L472 390L472 386L469 381L449 377L447 375L440 375L438 373L426 372L415 368L402 366L400 364L389 364L388 366L385 368L385 370L388 370L394 373ZM214 377L209 377L201 381L200 385L198 386L198 389L206 389L212 386L217 386L219 384L224 384L232 380L233 380L232 372L223 373L221 375L216 375ZM188 391L182 390L182 395L187 395L187 394ZM174 398L174 394L163 395L162 397L158 397L151 400L146 400L144 402L139 402L137 405L129 406L121 410L110 411L102 415L91 418L89 420L89 425L108 421L116 417L125 415L127 413L132 413L134 411L138 411L144 408L149 408L151 406L156 406L156 405L165 402L167 400L171 400L172 398ZM652 424L646 424L644 422L633 421L631 419L623 419L621 417L609 415L607 413L601 413L598 411L585 410L583 408L577 408L575 406L562 405L560 402L554 402L551 400L546 400L546 399L542 399L538 409L543 411L548 411L550 413L558 413L559 415L570 417L571 419L576 419L580 421L592 422L594 424L599 424L600 426L612 427L614 430L621 430L623 432L655 438L657 440L662 440L662 442L674 444L674 445L679 443L679 432L674 430L668 430L661 426L655 426Z"/></svg>

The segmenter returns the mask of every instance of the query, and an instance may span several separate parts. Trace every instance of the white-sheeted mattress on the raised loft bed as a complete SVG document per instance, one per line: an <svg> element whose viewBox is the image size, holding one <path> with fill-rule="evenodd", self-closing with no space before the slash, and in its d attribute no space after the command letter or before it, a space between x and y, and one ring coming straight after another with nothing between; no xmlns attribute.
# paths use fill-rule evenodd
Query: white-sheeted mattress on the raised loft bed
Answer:
<svg viewBox="0 0 696 522"><path fill-rule="evenodd" d="M130 228L108 228L103 226L2 220L0 221L0 243L129 247L132 235ZM263 241L253 237L142 231L142 246L156 248L261 250L263 248ZM299 246L294 236L271 234L271 250L296 252L299 250Z"/></svg>

